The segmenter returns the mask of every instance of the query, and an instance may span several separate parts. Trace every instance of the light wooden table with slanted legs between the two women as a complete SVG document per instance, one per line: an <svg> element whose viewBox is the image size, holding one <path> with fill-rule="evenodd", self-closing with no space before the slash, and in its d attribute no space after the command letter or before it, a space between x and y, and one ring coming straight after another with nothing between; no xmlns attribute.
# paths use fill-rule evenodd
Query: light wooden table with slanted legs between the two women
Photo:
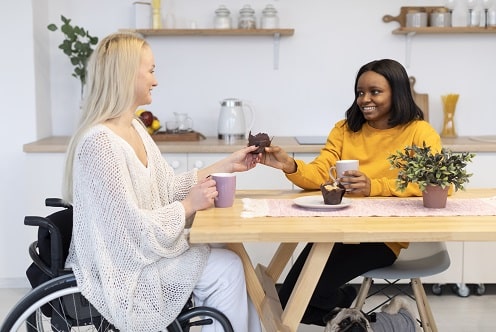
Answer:
<svg viewBox="0 0 496 332"><path fill-rule="evenodd" d="M232 208L199 211L191 228L192 243L227 243L241 257L249 295L268 332L297 331L335 242L496 241L496 216L318 217L311 222L308 217L241 218L241 198L296 198L305 194L309 193L238 191ZM496 196L496 189L458 191L454 196L491 197ZM254 268L243 246L245 242L280 242L281 245L268 267ZM283 311L275 282L299 242L315 245Z"/></svg>

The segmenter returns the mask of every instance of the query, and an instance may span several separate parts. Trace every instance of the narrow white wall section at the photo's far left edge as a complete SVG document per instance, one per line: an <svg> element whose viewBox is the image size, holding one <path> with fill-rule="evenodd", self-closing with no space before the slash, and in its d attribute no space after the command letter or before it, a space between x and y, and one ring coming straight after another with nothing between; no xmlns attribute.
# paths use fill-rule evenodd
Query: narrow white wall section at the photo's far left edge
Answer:
<svg viewBox="0 0 496 332"><path fill-rule="evenodd" d="M29 187L22 145L36 139L33 25L30 1L11 1L0 10L0 287L22 276L27 246L22 232ZM34 189L36 190L36 189ZM21 257L12 259L12 257Z"/></svg>

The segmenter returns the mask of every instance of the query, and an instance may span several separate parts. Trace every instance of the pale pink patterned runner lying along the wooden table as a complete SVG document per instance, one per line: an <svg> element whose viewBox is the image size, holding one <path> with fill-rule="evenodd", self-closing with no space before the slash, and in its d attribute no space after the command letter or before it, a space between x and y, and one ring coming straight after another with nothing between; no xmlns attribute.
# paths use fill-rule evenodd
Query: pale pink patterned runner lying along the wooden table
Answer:
<svg viewBox="0 0 496 332"><path fill-rule="evenodd" d="M243 198L242 218L255 217L410 217L410 216L495 216L496 196L489 198L448 197L446 208L425 208L422 197L350 198L342 209L309 209L292 199Z"/></svg>

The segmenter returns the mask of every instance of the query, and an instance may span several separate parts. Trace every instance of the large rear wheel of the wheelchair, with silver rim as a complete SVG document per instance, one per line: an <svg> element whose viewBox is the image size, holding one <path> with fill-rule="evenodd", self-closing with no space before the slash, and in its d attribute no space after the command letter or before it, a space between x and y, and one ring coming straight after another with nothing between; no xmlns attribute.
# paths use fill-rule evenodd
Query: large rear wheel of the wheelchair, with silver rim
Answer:
<svg viewBox="0 0 496 332"><path fill-rule="evenodd" d="M9 312L0 332L117 331L81 295L73 274L38 286Z"/></svg>

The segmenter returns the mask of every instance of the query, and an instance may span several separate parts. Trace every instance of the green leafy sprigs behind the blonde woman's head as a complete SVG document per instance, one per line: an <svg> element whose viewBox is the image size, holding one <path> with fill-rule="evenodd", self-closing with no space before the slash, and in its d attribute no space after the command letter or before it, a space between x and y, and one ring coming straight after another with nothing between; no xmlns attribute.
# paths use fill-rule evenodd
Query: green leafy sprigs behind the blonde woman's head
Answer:
<svg viewBox="0 0 496 332"><path fill-rule="evenodd" d="M81 96L83 95L84 84L86 83L86 64L93 46L98 43L98 37L90 35L88 30L77 25L71 25L71 20L60 15L62 25L60 31L64 34L65 39L59 45L59 48L66 54L74 66L72 76L81 82ZM47 26L48 30L56 31L58 27L51 23Z"/></svg>

